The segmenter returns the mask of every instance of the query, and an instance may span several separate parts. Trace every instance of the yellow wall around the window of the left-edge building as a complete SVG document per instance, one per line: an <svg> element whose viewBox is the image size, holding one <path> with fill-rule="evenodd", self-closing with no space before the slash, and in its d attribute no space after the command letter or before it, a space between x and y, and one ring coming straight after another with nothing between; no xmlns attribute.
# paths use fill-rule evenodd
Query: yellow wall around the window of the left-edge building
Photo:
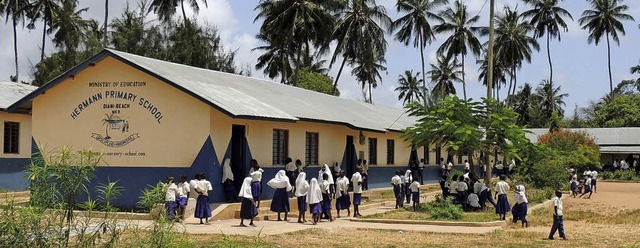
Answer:
<svg viewBox="0 0 640 248"><path fill-rule="evenodd" d="M18 154L4 153L4 122L20 123L20 140ZM30 158L31 157L31 116L25 114L11 114L0 111L0 158Z"/></svg>

